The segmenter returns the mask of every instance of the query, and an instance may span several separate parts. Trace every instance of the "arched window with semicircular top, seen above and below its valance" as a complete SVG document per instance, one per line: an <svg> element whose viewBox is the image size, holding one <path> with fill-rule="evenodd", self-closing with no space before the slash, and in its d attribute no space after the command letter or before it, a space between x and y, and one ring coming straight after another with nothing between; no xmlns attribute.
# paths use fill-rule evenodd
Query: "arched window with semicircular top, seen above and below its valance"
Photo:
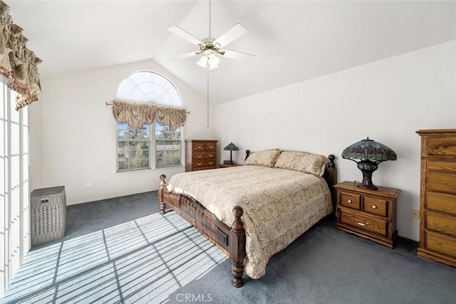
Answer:
<svg viewBox="0 0 456 304"><path fill-rule="evenodd" d="M118 100L182 107L175 86L160 74L142 70L120 83ZM182 164L182 127L172 131L156 120L138 130L117 122L117 170L156 169Z"/></svg>

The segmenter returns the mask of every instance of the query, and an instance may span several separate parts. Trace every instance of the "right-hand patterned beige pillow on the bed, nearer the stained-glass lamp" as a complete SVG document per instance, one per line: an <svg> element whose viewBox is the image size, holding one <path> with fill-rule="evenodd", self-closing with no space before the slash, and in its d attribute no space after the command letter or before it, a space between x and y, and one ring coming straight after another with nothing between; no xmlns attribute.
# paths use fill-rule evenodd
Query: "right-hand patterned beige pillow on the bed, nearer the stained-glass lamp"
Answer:
<svg viewBox="0 0 456 304"><path fill-rule="evenodd" d="M274 168L290 169L322 177L327 162L328 158L323 155L300 151L282 151L274 164Z"/></svg>

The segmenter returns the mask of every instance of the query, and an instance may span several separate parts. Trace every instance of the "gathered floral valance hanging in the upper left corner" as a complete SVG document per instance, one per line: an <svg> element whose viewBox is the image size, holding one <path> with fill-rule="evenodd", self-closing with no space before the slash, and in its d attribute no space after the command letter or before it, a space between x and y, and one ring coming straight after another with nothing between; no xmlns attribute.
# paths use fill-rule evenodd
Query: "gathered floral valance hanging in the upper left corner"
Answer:
<svg viewBox="0 0 456 304"><path fill-rule="evenodd" d="M41 59L26 47L27 40L22 28L9 16L9 6L0 0L0 73L8 78L8 87L19 93L16 110L38 100L41 94Z"/></svg>

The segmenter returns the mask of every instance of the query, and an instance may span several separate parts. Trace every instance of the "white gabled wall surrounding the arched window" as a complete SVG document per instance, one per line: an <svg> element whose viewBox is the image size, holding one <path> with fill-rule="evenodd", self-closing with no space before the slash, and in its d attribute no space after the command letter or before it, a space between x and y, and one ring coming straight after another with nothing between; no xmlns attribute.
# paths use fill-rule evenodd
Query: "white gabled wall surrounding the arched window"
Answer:
<svg viewBox="0 0 456 304"><path fill-rule="evenodd" d="M44 79L39 105L32 106L30 115L31 189L64 185L67 204L77 204L156 190L160 174L185 171L176 167L116 172L115 120L105 103L112 102L120 82L136 70L152 70L176 85L184 108L191 112L185 139L215 138L213 130L206 130L205 96L152 61ZM205 79L204 70L201 77ZM214 109L209 110L212 119Z"/></svg>

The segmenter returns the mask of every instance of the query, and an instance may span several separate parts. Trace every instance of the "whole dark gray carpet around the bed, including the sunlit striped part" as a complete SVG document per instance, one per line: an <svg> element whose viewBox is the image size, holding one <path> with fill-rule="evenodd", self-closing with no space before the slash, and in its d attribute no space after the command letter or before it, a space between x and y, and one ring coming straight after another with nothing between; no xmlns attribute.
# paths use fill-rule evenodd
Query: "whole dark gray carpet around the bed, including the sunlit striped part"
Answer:
<svg viewBox="0 0 456 304"><path fill-rule="evenodd" d="M230 284L229 260L157 192L68 206L66 236L36 246L2 303L456 303L456 268L336 231L326 218Z"/></svg>

